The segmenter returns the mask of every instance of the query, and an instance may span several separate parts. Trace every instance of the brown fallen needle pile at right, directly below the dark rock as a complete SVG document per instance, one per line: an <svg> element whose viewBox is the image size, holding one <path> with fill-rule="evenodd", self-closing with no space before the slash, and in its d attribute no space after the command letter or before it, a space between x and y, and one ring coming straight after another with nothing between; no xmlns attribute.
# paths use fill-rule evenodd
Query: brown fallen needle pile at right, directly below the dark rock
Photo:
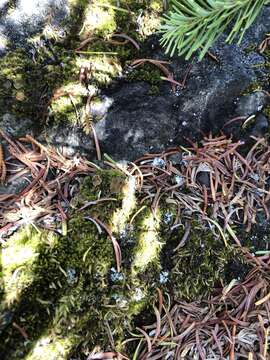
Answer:
<svg viewBox="0 0 270 360"><path fill-rule="evenodd" d="M226 242L229 233L240 245L234 225L250 231L258 214L269 219L270 147L253 138L246 156L244 144L221 136L204 138L202 145L147 154L130 167L138 178L142 202L151 200L155 212L161 200L178 208L175 225L198 215L215 225Z"/></svg>

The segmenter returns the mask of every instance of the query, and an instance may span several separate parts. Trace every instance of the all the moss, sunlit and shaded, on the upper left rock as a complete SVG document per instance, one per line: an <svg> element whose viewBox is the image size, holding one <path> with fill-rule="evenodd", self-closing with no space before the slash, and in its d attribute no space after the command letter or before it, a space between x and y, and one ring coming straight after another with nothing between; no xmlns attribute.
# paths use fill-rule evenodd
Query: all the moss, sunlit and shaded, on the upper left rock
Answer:
<svg viewBox="0 0 270 360"><path fill-rule="evenodd" d="M117 9L113 0L95 0L91 5L85 0L70 0L70 5L70 17L66 19L67 36L54 31L53 26L45 26L39 34L28 39L33 53L28 49L14 49L0 59L1 113L30 118L35 121L37 131L48 122L78 122L86 103L85 97L75 95L74 106L70 98L56 99L55 93L74 82L79 84L82 65L91 69L88 87L106 87L113 79L121 77L127 62L143 56L144 52L138 52L131 42L115 43L124 39L110 39L110 36L122 32L141 45L145 37L155 31L163 8L161 0L150 3L128 0L120 3L121 9ZM143 19L140 29L139 16ZM83 25L82 19L85 20ZM85 53L78 56L73 50L89 36L92 40L83 47ZM46 46L41 45L45 42ZM150 93L158 94L158 72L152 71L151 75L146 71L144 74L135 72L134 75L138 76L138 81L142 78L149 81L152 86ZM136 81L136 76L132 81ZM96 93L97 89L93 94Z"/></svg>

